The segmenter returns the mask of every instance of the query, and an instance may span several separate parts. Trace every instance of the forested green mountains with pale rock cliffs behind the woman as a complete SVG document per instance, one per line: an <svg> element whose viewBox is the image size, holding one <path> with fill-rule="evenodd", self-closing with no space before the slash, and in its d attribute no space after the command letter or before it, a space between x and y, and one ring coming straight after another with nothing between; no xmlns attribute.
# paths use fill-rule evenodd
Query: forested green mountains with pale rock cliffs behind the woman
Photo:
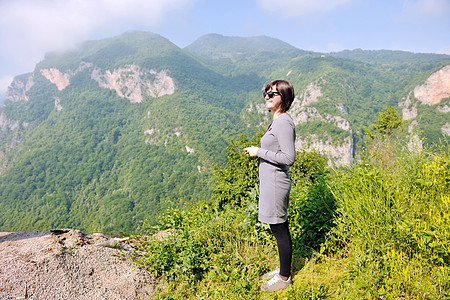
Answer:
<svg viewBox="0 0 450 300"><path fill-rule="evenodd" d="M216 34L180 49L138 31L50 53L14 79L0 108L0 230L132 232L208 199L229 138L270 122L261 89L276 78L296 90L297 147L323 150L330 163L350 164L364 126L388 105L407 116L411 138L415 128L438 141L448 87L426 83L447 78L450 56L386 56ZM426 97L437 91L438 102Z"/></svg>

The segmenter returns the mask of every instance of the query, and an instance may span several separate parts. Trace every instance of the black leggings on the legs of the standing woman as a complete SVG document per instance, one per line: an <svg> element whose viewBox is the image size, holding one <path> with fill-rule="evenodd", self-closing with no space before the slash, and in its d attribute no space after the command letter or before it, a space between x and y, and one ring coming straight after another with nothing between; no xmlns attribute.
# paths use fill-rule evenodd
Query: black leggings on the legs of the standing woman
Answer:
<svg viewBox="0 0 450 300"><path fill-rule="evenodd" d="M277 240L278 255L280 257L280 275L289 277L291 276L292 239L288 221L280 224L270 224L270 229Z"/></svg>

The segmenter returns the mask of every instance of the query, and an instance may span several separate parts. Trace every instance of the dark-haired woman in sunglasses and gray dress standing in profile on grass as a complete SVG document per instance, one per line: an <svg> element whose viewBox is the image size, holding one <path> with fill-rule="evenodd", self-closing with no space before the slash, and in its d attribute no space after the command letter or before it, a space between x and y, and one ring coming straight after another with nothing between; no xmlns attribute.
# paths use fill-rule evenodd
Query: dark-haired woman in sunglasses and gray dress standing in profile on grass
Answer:
<svg viewBox="0 0 450 300"><path fill-rule="evenodd" d="M260 148L252 146L244 151L250 157L259 158L258 219L270 225L277 240L280 267L263 275L270 280L261 285L262 290L273 292L292 283L292 240L287 210L291 190L288 170L295 161L295 125L286 112L294 100L294 88L288 81L274 80L266 86L264 100L273 121L261 138Z"/></svg>

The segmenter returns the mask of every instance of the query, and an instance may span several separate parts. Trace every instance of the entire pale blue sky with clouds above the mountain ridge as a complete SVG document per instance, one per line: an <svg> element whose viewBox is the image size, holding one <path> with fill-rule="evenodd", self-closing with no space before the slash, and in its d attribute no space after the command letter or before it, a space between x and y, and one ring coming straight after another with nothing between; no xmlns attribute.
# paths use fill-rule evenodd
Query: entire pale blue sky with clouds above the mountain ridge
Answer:
<svg viewBox="0 0 450 300"><path fill-rule="evenodd" d="M218 33L317 52L450 54L450 0L0 0L0 93L46 52L130 29L179 47Z"/></svg>

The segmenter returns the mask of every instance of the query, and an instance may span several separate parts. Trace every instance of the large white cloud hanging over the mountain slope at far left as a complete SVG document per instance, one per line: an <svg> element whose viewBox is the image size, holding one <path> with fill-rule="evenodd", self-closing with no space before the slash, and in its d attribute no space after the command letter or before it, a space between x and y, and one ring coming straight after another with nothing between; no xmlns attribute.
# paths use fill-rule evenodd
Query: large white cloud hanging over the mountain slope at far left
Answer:
<svg viewBox="0 0 450 300"><path fill-rule="evenodd" d="M45 52L134 27L150 30L198 0L1 0L1 68L31 71ZM7 60L7 61L6 61ZM0 74L1 76L2 74Z"/></svg>

